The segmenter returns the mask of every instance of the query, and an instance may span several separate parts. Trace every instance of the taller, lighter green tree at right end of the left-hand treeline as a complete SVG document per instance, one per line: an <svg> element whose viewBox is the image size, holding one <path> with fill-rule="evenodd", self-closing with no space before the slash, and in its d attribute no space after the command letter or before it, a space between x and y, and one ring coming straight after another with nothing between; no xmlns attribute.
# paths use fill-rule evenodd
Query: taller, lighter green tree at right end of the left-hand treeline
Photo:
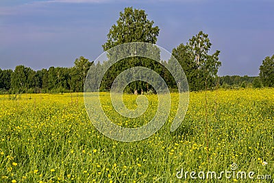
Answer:
<svg viewBox="0 0 274 183"><path fill-rule="evenodd" d="M83 92L86 75L93 62L88 61L87 58L80 56L74 62L71 68L71 88L76 92Z"/></svg>

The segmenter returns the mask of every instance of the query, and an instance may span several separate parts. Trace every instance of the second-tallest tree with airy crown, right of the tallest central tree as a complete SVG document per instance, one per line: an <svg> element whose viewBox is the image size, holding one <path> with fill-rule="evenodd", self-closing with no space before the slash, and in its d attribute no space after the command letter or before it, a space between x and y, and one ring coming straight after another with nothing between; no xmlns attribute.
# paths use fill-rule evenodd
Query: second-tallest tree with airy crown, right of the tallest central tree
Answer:
<svg viewBox="0 0 274 183"><path fill-rule="evenodd" d="M186 45L181 44L173 49L173 56L186 73L190 90L203 90L206 83L208 88L214 86L214 79L221 62L219 50L212 55L208 54L211 46L208 34L199 32L192 36Z"/></svg>

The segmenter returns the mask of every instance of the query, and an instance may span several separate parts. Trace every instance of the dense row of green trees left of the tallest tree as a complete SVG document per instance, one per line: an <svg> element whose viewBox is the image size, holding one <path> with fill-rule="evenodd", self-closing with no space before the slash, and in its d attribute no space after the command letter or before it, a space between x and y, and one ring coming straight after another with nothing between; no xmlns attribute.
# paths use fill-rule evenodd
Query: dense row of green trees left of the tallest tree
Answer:
<svg viewBox="0 0 274 183"><path fill-rule="evenodd" d="M93 64L84 57L77 58L71 68L53 67L34 71L19 65L14 71L0 69L1 93L68 93L83 92L84 80Z"/></svg>

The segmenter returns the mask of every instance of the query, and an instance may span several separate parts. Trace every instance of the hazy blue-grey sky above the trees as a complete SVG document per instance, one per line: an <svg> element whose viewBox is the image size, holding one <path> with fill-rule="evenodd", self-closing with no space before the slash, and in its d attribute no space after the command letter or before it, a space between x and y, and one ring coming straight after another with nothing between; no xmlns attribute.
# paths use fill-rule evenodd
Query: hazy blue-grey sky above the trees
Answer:
<svg viewBox="0 0 274 183"><path fill-rule="evenodd" d="M210 53L221 51L219 75L256 76L274 54L272 0L1 0L0 68L95 60L126 7L145 10L160 28L156 45L170 52L201 30L208 34Z"/></svg>

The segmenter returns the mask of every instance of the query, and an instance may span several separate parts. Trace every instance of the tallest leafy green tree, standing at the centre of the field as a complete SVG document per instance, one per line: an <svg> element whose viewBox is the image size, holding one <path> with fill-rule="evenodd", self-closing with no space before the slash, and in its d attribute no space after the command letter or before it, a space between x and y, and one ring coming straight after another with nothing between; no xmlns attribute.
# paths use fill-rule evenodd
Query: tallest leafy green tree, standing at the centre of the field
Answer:
<svg viewBox="0 0 274 183"><path fill-rule="evenodd" d="M147 19L145 10L137 10L131 8L125 8L124 12L120 12L120 17L116 21L116 25L112 25L110 32L108 33L108 40L102 45L103 50L107 51L116 45L121 45L126 42L149 42L155 44L157 36L159 34L159 27L153 27L153 21ZM159 57L160 57L160 53ZM110 89L114 78L122 71L132 68L133 66L146 66L155 71L155 64L153 60L147 58L125 58L120 62L116 62L108 70L108 73L103 77L103 84L106 89ZM158 66L159 68L159 66ZM142 82L132 82L129 84L129 88L132 90L142 90L146 86Z"/></svg>

